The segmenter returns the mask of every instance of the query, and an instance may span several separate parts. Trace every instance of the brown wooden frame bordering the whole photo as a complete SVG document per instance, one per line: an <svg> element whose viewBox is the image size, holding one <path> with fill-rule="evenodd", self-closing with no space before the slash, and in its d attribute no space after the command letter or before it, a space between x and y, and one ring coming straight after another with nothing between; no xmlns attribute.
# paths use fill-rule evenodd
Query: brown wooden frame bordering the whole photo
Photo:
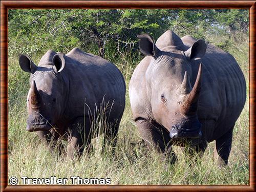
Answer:
<svg viewBox="0 0 256 192"><path fill-rule="evenodd" d="M1 1L1 191L255 191L255 6L256 1ZM8 184L8 9L249 9L249 185L7 185Z"/></svg>

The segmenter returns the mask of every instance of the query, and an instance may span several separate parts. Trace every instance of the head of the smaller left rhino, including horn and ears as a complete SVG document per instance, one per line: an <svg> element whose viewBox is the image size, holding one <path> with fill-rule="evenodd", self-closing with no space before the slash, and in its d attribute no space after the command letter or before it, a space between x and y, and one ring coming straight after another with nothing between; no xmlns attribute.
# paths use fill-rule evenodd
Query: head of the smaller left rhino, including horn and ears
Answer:
<svg viewBox="0 0 256 192"><path fill-rule="evenodd" d="M65 105L63 101L65 88L60 73L65 67L65 59L63 55L55 54L51 62L45 61L37 67L28 56L20 55L19 66L25 72L31 73L26 130L29 132L50 130L61 116L61 109Z"/></svg>

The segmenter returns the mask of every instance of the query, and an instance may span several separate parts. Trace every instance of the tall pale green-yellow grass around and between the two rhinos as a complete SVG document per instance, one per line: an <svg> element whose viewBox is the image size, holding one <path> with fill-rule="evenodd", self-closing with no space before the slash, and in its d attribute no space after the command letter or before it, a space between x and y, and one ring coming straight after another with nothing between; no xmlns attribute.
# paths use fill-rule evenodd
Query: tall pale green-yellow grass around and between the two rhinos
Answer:
<svg viewBox="0 0 256 192"><path fill-rule="evenodd" d="M208 40L215 42L213 37ZM178 162L174 165L168 164L161 155L149 152L141 142L132 120L128 89L115 156L101 153L102 137L93 140L94 153L83 155L80 160L52 156L35 133L25 130L29 74L19 68L17 56L10 55L9 177L111 178L111 184L249 184L248 40L239 46L234 44L225 48L236 57L246 76L247 101L234 127L229 165L223 168L218 168L214 161L214 142L209 143L203 158L198 159L192 166L187 163L191 159L187 159L179 147L174 147L178 155ZM33 60L37 63L39 56L33 57ZM115 63L124 74L128 88L138 58L123 57ZM19 184L22 184L20 181L19 179ZM71 180L68 181L71 184Z"/></svg>

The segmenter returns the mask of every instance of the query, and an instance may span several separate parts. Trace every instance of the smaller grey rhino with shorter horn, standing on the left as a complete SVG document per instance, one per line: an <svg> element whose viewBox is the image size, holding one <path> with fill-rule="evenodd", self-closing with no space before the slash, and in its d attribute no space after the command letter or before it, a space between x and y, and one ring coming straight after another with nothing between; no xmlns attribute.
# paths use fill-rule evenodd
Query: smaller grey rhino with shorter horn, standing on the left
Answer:
<svg viewBox="0 0 256 192"><path fill-rule="evenodd" d="M102 133L95 123L104 117L105 141L113 139L115 145L125 82L113 63L74 48L67 54L49 50L38 66L20 55L19 65L31 73L27 131L36 132L47 143L53 141L53 146L59 138L68 139L67 155L73 158Z"/></svg>

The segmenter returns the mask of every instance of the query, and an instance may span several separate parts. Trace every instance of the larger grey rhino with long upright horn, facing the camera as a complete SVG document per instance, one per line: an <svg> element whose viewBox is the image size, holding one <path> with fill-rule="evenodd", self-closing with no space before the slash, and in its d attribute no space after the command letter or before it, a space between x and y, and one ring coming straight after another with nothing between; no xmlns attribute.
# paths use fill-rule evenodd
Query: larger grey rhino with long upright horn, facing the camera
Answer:
<svg viewBox="0 0 256 192"><path fill-rule="evenodd" d="M134 70L129 95L145 143L174 162L172 145L202 155L216 140L217 162L227 164L233 127L246 100L237 61L204 40L180 38L170 30L156 44L147 34L138 38L146 56Z"/></svg>

